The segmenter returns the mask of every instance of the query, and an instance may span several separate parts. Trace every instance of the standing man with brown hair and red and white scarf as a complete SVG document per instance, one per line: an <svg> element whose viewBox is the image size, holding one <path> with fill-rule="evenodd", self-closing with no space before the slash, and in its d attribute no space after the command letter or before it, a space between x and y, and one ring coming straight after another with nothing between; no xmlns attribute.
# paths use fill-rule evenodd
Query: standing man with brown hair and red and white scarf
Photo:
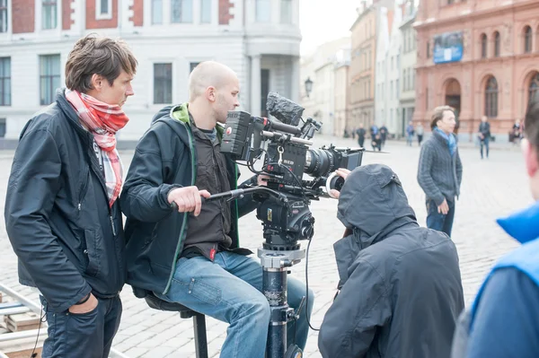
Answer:
<svg viewBox="0 0 539 358"><path fill-rule="evenodd" d="M125 283L116 132L137 60L119 40L79 39L66 87L22 129L5 201L21 284L37 287L49 322L43 358L108 357Z"/></svg>

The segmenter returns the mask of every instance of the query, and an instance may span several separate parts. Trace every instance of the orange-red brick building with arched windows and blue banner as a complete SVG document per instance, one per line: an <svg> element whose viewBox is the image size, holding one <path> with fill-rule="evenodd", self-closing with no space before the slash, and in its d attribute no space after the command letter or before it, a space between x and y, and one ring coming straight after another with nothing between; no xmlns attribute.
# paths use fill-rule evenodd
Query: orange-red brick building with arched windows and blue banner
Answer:
<svg viewBox="0 0 539 358"><path fill-rule="evenodd" d="M458 135L472 141L483 115L497 142L539 93L539 2L422 1L414 121L429 127L432 109L458 113Z"/></svg>

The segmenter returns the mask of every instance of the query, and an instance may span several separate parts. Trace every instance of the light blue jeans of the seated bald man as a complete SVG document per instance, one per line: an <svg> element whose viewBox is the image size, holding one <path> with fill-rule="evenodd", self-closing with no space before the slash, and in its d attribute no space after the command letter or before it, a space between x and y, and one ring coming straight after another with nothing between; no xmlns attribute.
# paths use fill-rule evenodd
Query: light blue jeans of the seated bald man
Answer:
<svg viewBox="0 0 539 358"><path fill-rule="evenodd" d="M287 284L288 305L296 309L305 296L305 284L292 277L288 277ZM168 293L155 295L227 322L230 326L221 348L222 357L263 358L270 304L261 290L260 262L223 251L216 254L214 262L204 257L180 258ZM287 345L294 343L296 336L296 345L302 350L305 348L309 333L305 308L310 317L313 303L314 293L309 290L308 306L304 306L300 319L287 325Z"/></svg>

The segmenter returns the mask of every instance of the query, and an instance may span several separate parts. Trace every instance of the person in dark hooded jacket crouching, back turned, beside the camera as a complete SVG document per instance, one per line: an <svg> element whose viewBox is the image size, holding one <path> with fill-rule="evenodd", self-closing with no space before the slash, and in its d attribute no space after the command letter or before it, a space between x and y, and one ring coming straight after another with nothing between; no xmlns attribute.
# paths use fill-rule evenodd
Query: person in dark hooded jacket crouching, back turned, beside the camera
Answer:
<svg viewBox="0 0 539 358"><path fill-rule="evenodd" d="M401 182L381 164L338 170L345 183L335 243L340 293L327 311L323 357L449 357L464 293L455 244L417 223Z"/></svg>

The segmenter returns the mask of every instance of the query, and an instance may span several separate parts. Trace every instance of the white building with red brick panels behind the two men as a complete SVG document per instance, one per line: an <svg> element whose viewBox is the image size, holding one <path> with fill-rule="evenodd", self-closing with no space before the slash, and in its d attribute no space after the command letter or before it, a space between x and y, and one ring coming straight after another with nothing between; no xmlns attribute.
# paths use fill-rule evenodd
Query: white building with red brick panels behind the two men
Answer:
<svg viewBox="0 0 539 358"><path fill-rule="evenodd" d="M69 51L90 32L126 39L138 59L120 143L188 100L200 61L234 69L252 115L265 114L269 91L299 100L299 0L0 0L0 147L54 100Z"/></svg>

